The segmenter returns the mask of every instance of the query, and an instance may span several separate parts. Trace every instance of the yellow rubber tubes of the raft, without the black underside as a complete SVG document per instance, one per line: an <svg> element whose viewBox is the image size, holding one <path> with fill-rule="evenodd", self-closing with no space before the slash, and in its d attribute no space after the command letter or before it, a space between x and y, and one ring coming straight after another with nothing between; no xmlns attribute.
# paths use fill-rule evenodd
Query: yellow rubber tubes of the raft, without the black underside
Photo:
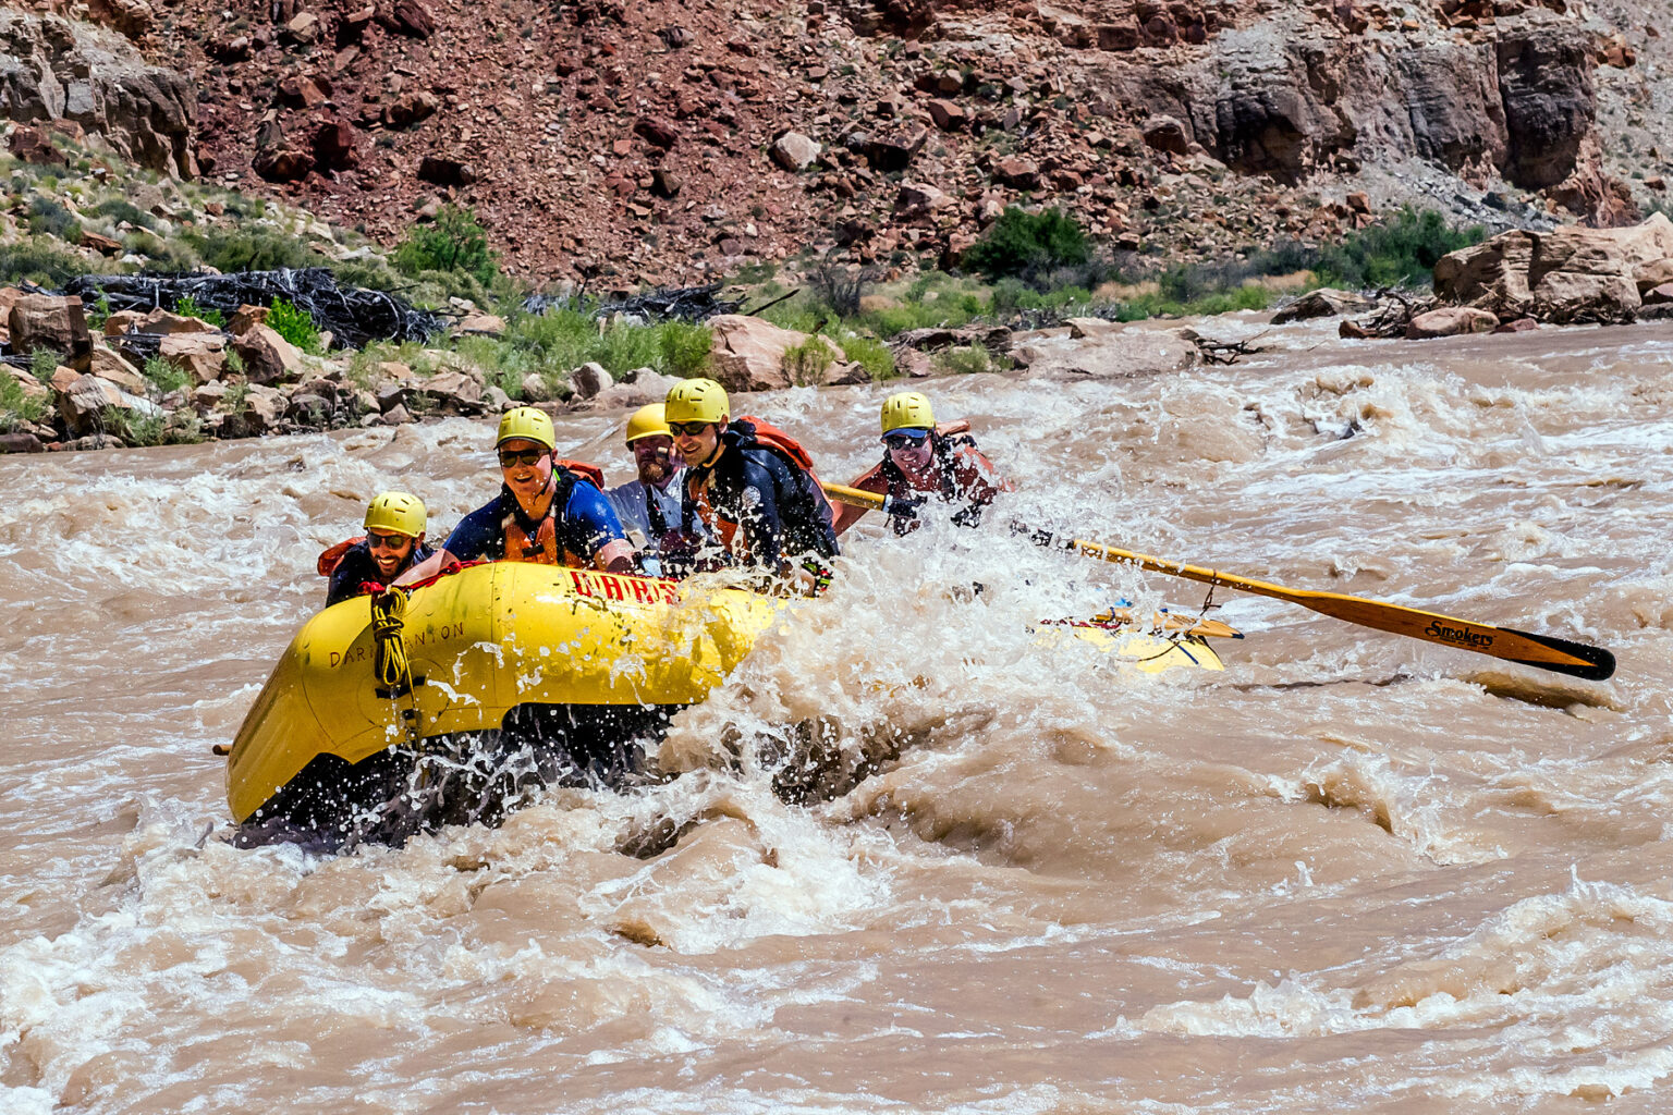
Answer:
<svg viewBox="0 0 1673 1115"><path fill-rule="evenodd" d="M328 789L383 752L499 729L529 705L557 707L594 732L654 731L706 699L791 603L704 577L472 565L407 598L400 637L413 684L393 692L375 670L371 597L343 600L301 627L244 717L228 759L228 804L243 824L304 769ZM1097 624L1036 632L1042 642L1092 642L1146 672L1223 669L1190 634Z"/></svg>

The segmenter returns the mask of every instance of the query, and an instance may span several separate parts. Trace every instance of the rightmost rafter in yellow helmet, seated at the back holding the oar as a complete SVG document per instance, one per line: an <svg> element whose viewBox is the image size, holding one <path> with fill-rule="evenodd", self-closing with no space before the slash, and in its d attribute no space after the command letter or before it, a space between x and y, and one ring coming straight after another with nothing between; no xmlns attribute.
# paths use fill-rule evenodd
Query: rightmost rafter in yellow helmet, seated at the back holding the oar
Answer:
<svg viewBox="0 0 1673 1115"><path fill-rule="evenodd" d="M965 433L967 421L935 425L929 396L900 391L883 400L883 460L855 478L853 488L888 496L885 513L897 535L918 528L917 512L929 500L954 507L952 522L975 527L1000 491L1010 491L994 463ZM836 533L853 527L867 508L836 510Z"/></svg>

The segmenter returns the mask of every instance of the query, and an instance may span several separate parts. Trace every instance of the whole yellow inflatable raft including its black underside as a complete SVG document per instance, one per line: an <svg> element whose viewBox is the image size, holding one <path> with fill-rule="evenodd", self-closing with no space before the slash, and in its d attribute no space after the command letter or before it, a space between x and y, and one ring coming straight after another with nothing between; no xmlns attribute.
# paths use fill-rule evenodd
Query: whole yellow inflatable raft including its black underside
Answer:
<svg viewBox="0 0 1673 1115"><path fill-rule="evenodd" d="M427 777L417 757L453 756L458 737L473 739L467 797L494 807L530 784L621 784L639 746L719 685L788 603L703 578L522 562L465 567L393 610L345 600L303 625L244 717L228 762L233 817L356 839L378 814L410 812ZM1236 634L1169 620L1136 635L1124 622L1039 632L1091 639L1144 670L1221 669L1203 635ZM483 736L505 742L483 749ZM442 819L492 819L494 807Z"/></svg>

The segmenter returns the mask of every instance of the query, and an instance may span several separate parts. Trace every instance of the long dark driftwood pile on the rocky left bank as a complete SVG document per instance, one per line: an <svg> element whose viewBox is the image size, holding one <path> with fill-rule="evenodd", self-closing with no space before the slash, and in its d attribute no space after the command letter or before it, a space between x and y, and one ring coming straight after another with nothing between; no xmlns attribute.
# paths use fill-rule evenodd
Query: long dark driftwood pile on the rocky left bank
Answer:
<svg viewBox="0 0 1673 1115"><path fill-rule="evenodd" d="M226 316L239 306L269 306L283 298L313 318L320 329L331 333L333 343L365 348L371 341L425 341L438 333L443 321L415 309L405 299L385 291L338 286L325 267L279 267L278 271L243 271L238 274L87 274L64 288L82 303L105 299L112 311L174 309L191 298L204 309Z"/></svg>

